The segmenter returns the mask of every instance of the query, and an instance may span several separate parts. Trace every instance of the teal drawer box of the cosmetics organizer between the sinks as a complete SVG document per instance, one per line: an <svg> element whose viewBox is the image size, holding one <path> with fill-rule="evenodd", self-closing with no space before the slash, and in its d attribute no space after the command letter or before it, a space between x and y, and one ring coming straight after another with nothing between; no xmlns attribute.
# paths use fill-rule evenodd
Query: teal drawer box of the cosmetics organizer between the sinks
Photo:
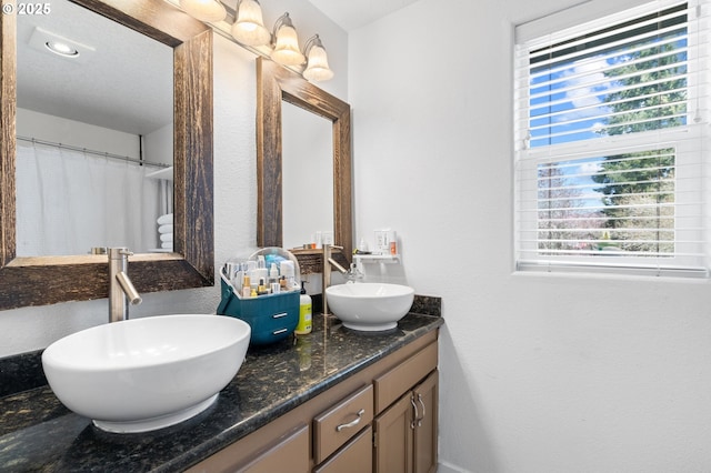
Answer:
<svg viewBox="0 0 711 473"><path fill-rule="evenodd" d="M218 314L243 320L252 329L250 343L264 345L291 335L299 323L299 291L240 299L221 278L222 301Z"/></svg>

